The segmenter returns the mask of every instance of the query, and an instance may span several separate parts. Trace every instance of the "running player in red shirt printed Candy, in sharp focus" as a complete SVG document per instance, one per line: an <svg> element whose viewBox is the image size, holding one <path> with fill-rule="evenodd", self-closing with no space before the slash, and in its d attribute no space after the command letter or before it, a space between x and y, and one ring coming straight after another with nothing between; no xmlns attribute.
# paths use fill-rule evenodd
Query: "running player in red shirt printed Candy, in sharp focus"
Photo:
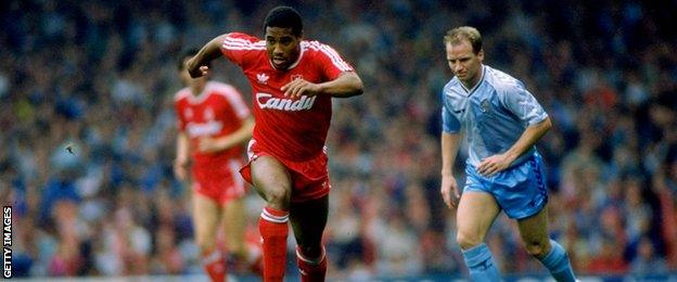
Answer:
<svg viewBox="0 0 677 282"><path fill-rule="evenodd" d="M188 62L192 77L226 56L240 66L253 89L256 125L240 170L266 201L259 219L264 279L284 277L288 221L296 239L302 281L323 281L322 233L329 209L324 142L332 98L362 93L362 81L331 47L303 39L299 14L277 7L266 16L264 39L230 33L206 43Z"/></svg>

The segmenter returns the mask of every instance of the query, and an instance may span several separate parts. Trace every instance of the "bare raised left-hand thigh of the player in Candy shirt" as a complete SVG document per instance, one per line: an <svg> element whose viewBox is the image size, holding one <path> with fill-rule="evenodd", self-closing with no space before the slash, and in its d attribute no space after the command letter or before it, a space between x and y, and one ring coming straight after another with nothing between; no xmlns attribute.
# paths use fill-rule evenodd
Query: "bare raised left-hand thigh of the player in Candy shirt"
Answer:
<svg viewBox="0 0 677 282"><path fill-rule="evenodd" d="M272 156L264 155L251 164L256 192L274 208L286 209L292 195L292 179L286 167Z"/></svg>

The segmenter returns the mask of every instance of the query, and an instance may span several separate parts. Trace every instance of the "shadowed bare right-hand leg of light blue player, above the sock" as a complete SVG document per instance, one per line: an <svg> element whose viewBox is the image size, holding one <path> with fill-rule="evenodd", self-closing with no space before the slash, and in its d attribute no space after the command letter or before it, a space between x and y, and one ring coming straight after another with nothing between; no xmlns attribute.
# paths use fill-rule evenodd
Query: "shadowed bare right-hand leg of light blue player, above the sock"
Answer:
<svg viewBox="0 0 677 282"><path fill-rule="evenodd" d="M526 246L527 253L544 256L549 252L548 209L544 207L536 215L518 220L520 236Z"/></svg>

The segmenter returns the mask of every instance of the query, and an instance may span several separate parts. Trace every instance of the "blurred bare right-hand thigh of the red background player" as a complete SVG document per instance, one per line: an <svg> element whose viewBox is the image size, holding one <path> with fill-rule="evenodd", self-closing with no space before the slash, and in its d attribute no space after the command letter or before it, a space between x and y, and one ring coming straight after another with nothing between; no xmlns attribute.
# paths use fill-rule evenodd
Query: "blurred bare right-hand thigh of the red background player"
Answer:
<svg viewBox="0 0 677 282"><path fill-rule="evenodd" d="M234 252L244 248L244 229L246 227L244 213L243 198L234 198L223 206L223 229L228 246Z"/></svg>

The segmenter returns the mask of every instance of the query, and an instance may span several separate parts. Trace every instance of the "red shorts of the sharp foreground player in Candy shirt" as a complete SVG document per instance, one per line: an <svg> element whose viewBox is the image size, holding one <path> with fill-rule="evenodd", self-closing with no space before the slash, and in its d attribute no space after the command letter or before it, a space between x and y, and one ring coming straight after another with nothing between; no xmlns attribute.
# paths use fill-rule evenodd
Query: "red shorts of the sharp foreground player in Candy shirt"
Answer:
<svg viewBox="0 0 677 282"><path fill-rule="evenodd" d="M277 157L261 149L256 140L252 139L247 146L250 162L240 169L242 178L252 182L252 162L260 156L272 156L286 167L292 178L292 203L320 198L329 194L329 171L327 169L327 152L318 154L312 159L293 162Z"/></svg>

